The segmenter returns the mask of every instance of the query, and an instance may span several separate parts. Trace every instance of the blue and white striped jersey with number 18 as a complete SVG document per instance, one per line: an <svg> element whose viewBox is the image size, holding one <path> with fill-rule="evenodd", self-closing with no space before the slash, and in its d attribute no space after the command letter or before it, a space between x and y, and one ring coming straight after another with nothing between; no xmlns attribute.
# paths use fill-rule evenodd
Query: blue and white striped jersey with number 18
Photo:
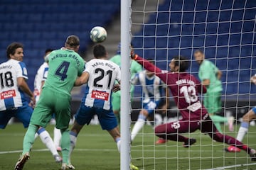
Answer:
<svg viewBox="0 0 256 170"><path fill-rule="evenodd" d="M18 88L18 77L28 79L25 63L11 59L0 64L0 111L21 107L26 102L24 92Z"/></svg>

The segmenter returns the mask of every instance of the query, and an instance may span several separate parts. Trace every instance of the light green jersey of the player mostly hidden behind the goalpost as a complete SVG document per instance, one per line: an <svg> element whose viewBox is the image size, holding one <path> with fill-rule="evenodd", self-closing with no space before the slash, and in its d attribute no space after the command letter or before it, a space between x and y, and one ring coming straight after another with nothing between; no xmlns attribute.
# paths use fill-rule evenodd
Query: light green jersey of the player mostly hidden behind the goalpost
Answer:
<svg viewBox="0 0 256 170"><path fill-rule="evenodd" d="M110 61L114 62L115 64L119 65L119 67L121 67L121 55L114 55L114 57L112 57ZM142 65L132 60L130 70L131 78L133 78L137 72L142 71Z"/></svg>

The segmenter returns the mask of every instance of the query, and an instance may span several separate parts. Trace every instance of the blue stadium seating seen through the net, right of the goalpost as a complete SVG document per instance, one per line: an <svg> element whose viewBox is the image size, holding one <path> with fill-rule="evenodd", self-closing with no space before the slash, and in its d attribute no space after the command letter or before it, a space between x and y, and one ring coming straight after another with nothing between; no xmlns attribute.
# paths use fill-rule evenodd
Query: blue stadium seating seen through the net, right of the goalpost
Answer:
<svg viewBox="0 0 256 170"><path fill-rule="evenodd" d="M168 69L166 62L161 62L166 56L169 60L174 55L193 59L193 51L201 48L206 58L215 59L212 61L222 70L225 94L255 94L256 89L249 86L250 76L256 73L255 11L250 8L256 6L255 1L247 1L245 11L244 1L209 3L198 0L195 7L195 1L164 1L134 35L132 43L137 53L156 57L156 65ZM190 71L197 75L196 62L192 62Z"/></svg>

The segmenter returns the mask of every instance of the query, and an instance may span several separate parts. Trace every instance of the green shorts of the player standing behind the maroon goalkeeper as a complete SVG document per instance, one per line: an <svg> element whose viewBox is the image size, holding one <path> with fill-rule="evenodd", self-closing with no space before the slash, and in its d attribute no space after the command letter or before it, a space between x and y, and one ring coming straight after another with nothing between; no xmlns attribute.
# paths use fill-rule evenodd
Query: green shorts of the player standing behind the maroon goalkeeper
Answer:
<svg viewBox="0 0 256 170"><path fill-rule="evenodd" d="M221 111L221 93L207 92L203 98L203 106L206 107L208 113L218 113Z"/></svg>

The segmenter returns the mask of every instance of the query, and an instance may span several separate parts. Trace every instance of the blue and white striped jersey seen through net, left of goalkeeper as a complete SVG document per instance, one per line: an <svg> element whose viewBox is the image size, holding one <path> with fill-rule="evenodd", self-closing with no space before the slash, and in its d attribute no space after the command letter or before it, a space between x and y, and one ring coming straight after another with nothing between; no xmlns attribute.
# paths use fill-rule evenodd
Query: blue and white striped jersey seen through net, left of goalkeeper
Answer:
<svg viewBox="0 0 256 170"><path fill-rule="evenodd" d="M160 101L162 96L162 89L166 88L166 85L159 77L155 75L153 77L148 77L146 75L146 70L139 72L132 79L132 84L141 84L143 103L148 103L149 101Z"/></svg>

